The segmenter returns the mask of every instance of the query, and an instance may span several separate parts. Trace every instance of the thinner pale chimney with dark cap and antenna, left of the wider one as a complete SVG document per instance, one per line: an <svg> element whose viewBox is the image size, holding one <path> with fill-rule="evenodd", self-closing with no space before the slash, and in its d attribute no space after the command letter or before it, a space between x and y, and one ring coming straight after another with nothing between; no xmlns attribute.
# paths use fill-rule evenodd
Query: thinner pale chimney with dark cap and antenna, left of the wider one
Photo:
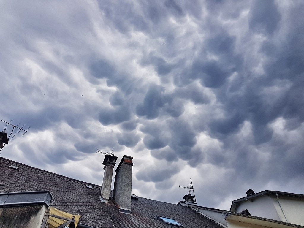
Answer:
<svg viewBox="0 0 304 228"><path fill-rule="evenodd" d="M113 155L106 154L105 159L103 160L103 169L105 173L103 174L103 181L102 181L102 188L101 188L101 201L108 203L110 190L111 190L111 183L112 183L112 176L113 176L113 169L116 164L117 157Z"/></svg>

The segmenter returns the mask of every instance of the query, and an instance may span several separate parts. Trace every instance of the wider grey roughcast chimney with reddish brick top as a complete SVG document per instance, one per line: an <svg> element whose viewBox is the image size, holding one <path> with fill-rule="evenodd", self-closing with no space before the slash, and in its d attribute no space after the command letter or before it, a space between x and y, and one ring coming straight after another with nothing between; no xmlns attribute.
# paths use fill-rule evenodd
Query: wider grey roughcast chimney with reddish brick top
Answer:
<svg viewBox="0 0 304 228"><path fill-rule="evenodd" d="M124 155L116 168L113 199L119 212L131 214L132 159Z"/></svg>

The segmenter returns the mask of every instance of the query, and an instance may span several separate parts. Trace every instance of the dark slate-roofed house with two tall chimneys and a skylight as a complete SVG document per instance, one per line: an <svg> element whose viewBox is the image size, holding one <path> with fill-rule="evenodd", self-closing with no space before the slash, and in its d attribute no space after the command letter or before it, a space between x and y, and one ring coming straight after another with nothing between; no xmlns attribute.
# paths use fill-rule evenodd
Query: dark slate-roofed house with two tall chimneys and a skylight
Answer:
<svg viewBox="0 0 304 228"><path fill-rule="evenodd" d="M0 227L226 227L204 216L186 197L183 205L178 205L131 195L133 158L130 156L123 156L118 164L114 190L111 190L116 159L115 156L105 156L101 186L1 157ZM8 196L13 203L8 202ZM33 206L37 207L35 211L31 208ZM207 208L201 208L203 210ZM25 226L26 215L30 218L28 221L33 222L37 218L40 221L36 225L31 223ZM12 220L11 223L8 218ZM54 222L52 219L57 219L57 226L51 224Z"/></svg>

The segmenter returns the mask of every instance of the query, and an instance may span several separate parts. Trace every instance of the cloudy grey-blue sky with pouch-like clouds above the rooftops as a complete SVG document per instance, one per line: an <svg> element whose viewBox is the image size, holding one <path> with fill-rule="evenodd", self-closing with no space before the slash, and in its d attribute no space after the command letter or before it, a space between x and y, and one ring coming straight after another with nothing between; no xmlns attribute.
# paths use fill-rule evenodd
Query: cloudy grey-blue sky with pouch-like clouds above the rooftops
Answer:
<svg viewBox="0 0 304 228"><path fill-rule="evenodd" d="M303 1L0 2L0 119L30 127L2 157L101 185L113 150L132 193L177 203L191 178L225 210L304 194Z"/></svg>

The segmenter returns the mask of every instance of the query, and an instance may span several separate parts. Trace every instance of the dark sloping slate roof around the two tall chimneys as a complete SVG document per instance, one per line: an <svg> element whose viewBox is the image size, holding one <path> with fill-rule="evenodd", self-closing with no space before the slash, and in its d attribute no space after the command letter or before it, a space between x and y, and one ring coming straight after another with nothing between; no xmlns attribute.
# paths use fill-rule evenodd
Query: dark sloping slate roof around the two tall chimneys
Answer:
<svg viewBox="0 0 304 228"><path fill-rule="evenodd" d="M9 168L10 165L19 169ZM93 189L86 188L91 185ZM223 228L187 206L138 197L131 200L131 215L119 213L114 204L100 201L100 185L94 185L0 157L0 193L43 191L51 192L51 206L80 214L79 223L98 228L174 227L157 216L176 219L185 228Z"/></svg>

